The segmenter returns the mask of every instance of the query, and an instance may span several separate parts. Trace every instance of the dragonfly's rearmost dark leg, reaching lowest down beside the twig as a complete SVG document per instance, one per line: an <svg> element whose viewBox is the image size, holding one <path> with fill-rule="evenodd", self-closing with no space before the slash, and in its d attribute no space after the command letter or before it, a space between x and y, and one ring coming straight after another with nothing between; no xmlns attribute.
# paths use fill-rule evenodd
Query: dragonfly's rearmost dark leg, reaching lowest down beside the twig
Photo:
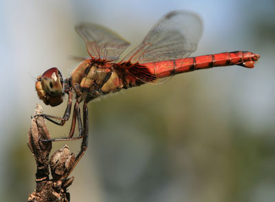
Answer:
<svg viewBox="0 0 275 202"><path fill-rule="evenodd" d="M78 162L80 161L81 157L83 157L83 155L85 154L85 151L87 150L87 147L88 147L88 136L89 136L88 107L87 107L87 102L85 102L83 105L83 141L81 144L81 149L78 155L76 156L76 160L74 161L74 164L71 170L69 170L67 175L65 175L65 178L69 176L69 174L76 167L76 164L78 164Z"/></svg>

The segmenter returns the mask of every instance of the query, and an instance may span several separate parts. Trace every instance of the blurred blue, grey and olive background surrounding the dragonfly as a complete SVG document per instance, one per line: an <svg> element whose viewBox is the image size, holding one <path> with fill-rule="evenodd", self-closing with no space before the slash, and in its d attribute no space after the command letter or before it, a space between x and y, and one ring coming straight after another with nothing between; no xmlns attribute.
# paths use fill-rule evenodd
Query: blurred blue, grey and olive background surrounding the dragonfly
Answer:
<svg viewBox="0 0 275 202"><path fill-rule="evenodd" d="M175 76L89 104L89 147L72 175L72 201L275 201L275 1L0 1L0 199L27 201L36 164L27 146L34 78L58 67L67 78L87 56L80 21L111 28L138 45L171 10L203 20L192 56L261 55L239 66ZM69 124L48 123L52 137ZM67 142L77 153L80 142ZM61 148L54 143L52 151Z"/></svg>

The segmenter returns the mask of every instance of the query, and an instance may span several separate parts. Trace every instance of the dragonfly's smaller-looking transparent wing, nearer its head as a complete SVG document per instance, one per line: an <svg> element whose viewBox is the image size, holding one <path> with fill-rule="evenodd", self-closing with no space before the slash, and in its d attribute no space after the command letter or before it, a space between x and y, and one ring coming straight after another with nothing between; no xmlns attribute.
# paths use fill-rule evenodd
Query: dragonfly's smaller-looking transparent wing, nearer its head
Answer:
<svg viewBox="0 0 275 202"><path fill-rule="evenodd" d="M93 23L76 25L76 32L84 39L87 51L94 59L116 60L130 45L115 32Z"/></svg>

